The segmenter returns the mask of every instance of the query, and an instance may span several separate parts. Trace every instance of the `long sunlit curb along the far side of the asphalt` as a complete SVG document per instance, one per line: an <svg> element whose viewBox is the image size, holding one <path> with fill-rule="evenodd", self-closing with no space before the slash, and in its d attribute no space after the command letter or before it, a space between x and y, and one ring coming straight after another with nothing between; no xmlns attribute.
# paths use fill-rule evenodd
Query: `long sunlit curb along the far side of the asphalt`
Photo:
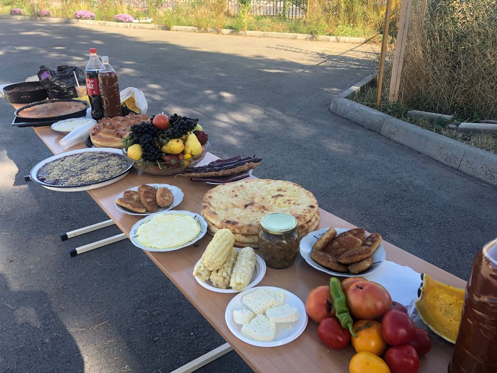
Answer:
<svg viewBox="0 0 497 373"><path fill-rule="evenodd" d="M110 21L91 21L86 19L71 19L71 18L54 18L54 17L29 17L27 15L0 15L0 19L15 19L15 20L31 20L38 22L48 22L48 23L66 23L66 24L88 24L94 26L106 26L106 27L121 27L121 28L141 28L148 30L170 30L170 31L183 31L183 32L208 32L213 34L222 35L240 35L249 37L265 37L265 38L276 38L276 39L297 39L297 40L318 40L318 41L328 41L332 43L353 43L361 44L366 41L366 38L348 37L348 36L327 36L318 35L314 37L310 34L296 34L291 32L269 32L269 31L250 31L250 30L230 30L226 28L216 29L216 28L200 28L191 26L172 26L170 29L166 26L158 24L147 24L147 23L122 23L122 22L110 22Z"/></svg>

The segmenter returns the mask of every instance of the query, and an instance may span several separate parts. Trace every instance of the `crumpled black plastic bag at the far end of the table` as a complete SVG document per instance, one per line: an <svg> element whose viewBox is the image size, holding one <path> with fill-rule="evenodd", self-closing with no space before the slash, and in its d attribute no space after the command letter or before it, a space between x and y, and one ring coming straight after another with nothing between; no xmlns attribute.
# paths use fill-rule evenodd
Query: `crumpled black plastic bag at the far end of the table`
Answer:
<svg viewBox="0 0 497 373"><path fill-rule="evenodd" d="M72 65L57 66L57 70L42 65L38 72L38 79L41 86L47 90L49 98L73 98L78 96L74 88L76 86L74 72L76 72L80 86L85 86L84 71Z"/></svg>

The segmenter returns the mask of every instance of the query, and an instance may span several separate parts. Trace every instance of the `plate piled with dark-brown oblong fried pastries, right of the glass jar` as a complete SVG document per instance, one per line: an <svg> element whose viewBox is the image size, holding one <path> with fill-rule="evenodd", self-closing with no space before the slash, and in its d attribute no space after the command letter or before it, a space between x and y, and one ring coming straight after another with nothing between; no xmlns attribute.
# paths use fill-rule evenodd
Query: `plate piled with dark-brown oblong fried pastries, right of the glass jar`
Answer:
<svg viewBox="0 0 497 373"><path fill-rule="evenodd" d="M300 255L312 267L333 276L353 277L376 271L385 261L379 233L362 228L322 228L300 241Z"/></svg>

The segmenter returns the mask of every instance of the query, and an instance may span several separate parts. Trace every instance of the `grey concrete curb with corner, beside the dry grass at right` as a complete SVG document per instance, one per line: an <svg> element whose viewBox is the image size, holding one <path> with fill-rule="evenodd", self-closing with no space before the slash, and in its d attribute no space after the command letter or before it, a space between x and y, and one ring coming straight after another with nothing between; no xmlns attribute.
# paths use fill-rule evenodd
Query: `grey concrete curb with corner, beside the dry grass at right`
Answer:
<svg viewBox="0 0 497 373"><path fill-rule="evenodd" d="M381 111L352 101L374 79L371 76L340 93L330 110L381 135L435 159L446 166L497 187L497 155L474 148Z"/></svg>

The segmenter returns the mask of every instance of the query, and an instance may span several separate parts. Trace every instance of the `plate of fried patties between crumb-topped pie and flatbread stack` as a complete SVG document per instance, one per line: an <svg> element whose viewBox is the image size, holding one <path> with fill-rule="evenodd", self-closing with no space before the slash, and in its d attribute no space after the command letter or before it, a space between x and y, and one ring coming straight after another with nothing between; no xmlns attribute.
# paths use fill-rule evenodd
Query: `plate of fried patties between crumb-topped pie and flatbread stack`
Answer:
<svg viewBox="0 0 497 373"><path fill-rule="evenodd" d="M150 215L170 210L183 200L180 188L169 184L142 184L123 191L116 199L116 207L130 215Z"/></svg>

